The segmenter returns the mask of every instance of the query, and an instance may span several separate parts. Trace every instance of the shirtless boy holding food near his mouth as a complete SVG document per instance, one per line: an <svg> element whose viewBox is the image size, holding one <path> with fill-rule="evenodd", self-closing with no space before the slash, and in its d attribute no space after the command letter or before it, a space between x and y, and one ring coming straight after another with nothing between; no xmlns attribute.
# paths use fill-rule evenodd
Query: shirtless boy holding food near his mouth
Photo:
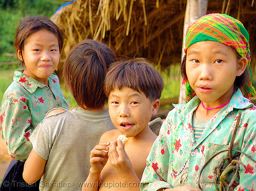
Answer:
<svg viewBox="0 0 256 191"><path fill-rule="evenodd" d="M157 137L148 122L159 108L162 77L145 59L119 61L111 65L104 88L117 130L105 132L91 151L92 168L82 190L139 190ZM120 134L127 137L125 145L116 140Z"/></svg>

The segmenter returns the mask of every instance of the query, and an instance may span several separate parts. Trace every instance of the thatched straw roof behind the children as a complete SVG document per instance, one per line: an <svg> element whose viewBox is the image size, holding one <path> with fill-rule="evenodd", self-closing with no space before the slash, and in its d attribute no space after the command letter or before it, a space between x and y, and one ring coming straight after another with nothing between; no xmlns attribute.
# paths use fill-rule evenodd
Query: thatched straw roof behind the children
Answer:
<svg viewBox="0 0 256 191"><path fill-rule="evenodd" d="M252 53L256 51L253 1L208 0L207 10L239 18L250 34ZM158 66L180 62L185 9L186 0L75 0L52 16L66 35L61 59L77 42L92 38L121 55L142 56Z"/></svg>

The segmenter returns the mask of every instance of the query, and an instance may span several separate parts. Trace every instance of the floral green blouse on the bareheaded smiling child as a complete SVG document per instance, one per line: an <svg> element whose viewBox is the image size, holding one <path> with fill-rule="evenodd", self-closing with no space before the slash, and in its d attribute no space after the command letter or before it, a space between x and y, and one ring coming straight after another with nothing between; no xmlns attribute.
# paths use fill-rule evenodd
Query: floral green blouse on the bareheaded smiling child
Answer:
<svg viewBox="0 0 256 191"><path fill-rule="evenodd" d="M3 96L0 130L10 156L24 161L32 149L29 136L35 127L49 110L55 107L68 109L68 103L56 74L48 78L49 87L27 77L22 71L14 74L13 82Z"/></svg>

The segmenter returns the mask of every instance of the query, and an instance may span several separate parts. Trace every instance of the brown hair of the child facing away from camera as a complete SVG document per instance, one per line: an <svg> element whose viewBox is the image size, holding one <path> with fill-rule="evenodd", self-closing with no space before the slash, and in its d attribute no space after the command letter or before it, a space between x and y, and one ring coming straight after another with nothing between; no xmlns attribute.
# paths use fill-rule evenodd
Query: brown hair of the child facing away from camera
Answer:
<svg viewBox="0 0 256 191"><path fill-rule="evenodd" d="M69 52L63 65L63 80L79 107L99 108L108 98L104 79L116 54L96 40L83 40Z"/></svg>

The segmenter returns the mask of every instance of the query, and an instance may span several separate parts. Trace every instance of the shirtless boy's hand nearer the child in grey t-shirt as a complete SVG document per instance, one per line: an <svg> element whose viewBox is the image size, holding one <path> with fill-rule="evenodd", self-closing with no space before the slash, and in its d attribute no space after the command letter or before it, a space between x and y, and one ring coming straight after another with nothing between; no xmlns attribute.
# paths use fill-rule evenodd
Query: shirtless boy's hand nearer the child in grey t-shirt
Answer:
<svg viewBox="0 0 256 191"><path fill-rule="evenodd" d="M91 173L99 174L106 162L108 161L108 150L109 142L100 142L99 145L96 145L90 154L90 163L92 168Z"/></svg>

